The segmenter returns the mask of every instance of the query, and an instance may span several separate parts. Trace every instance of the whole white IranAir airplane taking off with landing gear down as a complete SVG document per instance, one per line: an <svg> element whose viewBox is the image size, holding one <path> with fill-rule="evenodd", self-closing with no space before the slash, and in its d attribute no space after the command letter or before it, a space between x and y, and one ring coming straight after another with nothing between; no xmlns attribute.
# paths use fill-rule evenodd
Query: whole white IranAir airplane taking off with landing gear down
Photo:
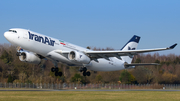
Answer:
<svg viewBox="0 0 180 101"><path fill-rule="evenodd" d="M40 64L42 59L49 59L54 67L55 76L62 76L58 63L68 66L79 66L83 76L90 76L90 71L118 71L135 68L141 65L158 65L157 63L131 63L138 53L173 49L177 43L167 48L136 50L140 37L134 35L121 50L93 51L63 40L52 38L27 29L12 28L4 33L4 37L17 47L20 61ZM25 49L25 50L24 50Z"/></svg>

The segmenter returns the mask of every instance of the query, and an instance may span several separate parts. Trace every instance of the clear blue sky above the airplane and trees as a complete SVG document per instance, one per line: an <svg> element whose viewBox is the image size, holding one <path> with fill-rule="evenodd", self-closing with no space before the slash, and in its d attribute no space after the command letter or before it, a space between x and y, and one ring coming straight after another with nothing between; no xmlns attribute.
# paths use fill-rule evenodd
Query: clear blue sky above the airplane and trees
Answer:
<svg viewBox="0 0 180 101"><path fill-rule="evenodd" d="M138 49L180 44L180 0L1 0L3 33L25 28L79 46L121 49L141 36ZM180 46L160 54L180 55Z"/></svg>

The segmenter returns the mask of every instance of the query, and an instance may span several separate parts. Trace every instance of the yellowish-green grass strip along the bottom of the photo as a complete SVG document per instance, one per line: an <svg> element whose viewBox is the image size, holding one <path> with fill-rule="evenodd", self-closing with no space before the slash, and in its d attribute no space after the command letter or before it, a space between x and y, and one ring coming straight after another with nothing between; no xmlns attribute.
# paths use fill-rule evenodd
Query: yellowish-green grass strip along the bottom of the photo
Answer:
<svg viewBox="0 0 180 101"><path fill-rule="evenodd" d="M180 101L180 92L0 91L0 101Z"/></svg>

